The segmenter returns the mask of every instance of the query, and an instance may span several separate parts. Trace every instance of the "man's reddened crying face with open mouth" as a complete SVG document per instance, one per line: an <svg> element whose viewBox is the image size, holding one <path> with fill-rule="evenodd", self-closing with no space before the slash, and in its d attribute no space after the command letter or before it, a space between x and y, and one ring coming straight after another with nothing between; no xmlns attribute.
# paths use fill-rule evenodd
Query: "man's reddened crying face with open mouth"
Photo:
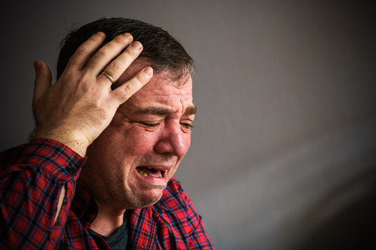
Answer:
<svg viewBox="0 0 376 250"><path fill-rule="evenodd" d="M142 63L133 63L118 82L142 68ZM155 74L123 103L88 148L81 178L97 202L125 209L157 202L187 153L196 112L191 77L181 84L167 76Z"/></svg>

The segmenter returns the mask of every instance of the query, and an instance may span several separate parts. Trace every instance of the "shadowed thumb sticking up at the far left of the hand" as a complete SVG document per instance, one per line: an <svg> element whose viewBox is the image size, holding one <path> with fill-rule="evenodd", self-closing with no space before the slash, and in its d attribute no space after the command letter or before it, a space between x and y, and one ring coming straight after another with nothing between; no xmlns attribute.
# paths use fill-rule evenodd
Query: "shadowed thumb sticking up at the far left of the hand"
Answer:
<svg viewBox="0 0 376 250"><path fill-rule="evenodd" d="M36 69L36 79L34 81L33 103L45 94L48 88L51 87L52 81L51 70L44 62L34 62L34 69Z"/></svg>

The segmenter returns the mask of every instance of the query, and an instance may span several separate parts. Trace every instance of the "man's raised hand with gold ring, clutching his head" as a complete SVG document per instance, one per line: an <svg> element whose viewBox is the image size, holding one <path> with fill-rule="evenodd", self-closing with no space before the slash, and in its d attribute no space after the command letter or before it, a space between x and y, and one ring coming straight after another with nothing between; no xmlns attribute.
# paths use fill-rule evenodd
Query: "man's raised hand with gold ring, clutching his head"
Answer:
<svg viewBox="0 0 376 250"><path fill-rule="evenodd" d="M95 33L81 44L54 85L48 66L34 63L35 138L56 140L84 156L88 145L109 126L118 106L150 81L152 68L145 67L111 91L111 81L101 73L118 80L139 56L142 45L125 33L100 48L104 38L104 33Z"/></svg>

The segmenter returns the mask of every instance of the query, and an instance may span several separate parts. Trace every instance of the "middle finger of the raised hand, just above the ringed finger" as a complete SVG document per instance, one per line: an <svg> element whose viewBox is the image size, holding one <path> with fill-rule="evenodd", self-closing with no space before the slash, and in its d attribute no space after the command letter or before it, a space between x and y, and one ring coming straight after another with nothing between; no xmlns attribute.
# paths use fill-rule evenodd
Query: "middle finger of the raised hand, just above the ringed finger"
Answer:
<svg viewBox="0 0 376 250"><path fill-rule="evenodd" d="M86 69L95 74L99 75L104 67L106 67L113 58L116 58L118 54L125 49L133 40L130 33L124 33L113 38L110 42L105 44L100 48L94 56L88 61Z"/></svg>

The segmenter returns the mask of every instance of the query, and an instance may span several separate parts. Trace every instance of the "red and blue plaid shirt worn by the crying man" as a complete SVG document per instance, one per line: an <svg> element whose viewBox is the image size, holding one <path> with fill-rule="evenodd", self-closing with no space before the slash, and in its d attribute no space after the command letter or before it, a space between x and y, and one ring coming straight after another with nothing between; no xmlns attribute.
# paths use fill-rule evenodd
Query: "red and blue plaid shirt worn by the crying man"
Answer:
<svg viewBox="0 0 376 250"><path fill-rule="evenodd" d="M90 230L97 205L77 181L84 161L47 139L0 153L0 249L109 249ZM127 249L212 249L201 216L175 178L155 205L127 210L126 216Z"/></svg>

